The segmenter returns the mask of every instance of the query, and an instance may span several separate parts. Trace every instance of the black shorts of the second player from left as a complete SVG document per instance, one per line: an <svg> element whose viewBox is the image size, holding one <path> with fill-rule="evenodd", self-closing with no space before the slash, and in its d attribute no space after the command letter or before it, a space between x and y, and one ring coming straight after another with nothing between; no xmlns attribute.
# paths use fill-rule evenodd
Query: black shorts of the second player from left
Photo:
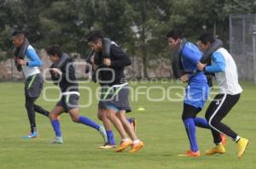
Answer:
<svg viewBox="0 0 256 169"><path fill-rule="evenodd" d="M61 100L56 104L64 108L65 112L79 108L79 95L69 94L61 96Z"/></svg>

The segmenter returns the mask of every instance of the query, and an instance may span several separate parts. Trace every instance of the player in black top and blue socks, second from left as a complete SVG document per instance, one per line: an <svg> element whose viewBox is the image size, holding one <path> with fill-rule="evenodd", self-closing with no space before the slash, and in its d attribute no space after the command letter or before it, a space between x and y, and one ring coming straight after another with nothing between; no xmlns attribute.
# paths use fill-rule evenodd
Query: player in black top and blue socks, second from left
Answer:
<svg viewBox="0 0 256 169"><path fill-rule="evenodd" d="M47 54L53 63L53 66L50 69L52 80L61 88L61 100L49 114L49 119L55 131L55 140L53 143L63 143L60 121L58 120L58 116L63 112L67 112L71 116L73 122L78 122L96 129L100 132L104 141L107 142L108 139L104 127L98 125L95 121L91 121L84 115L79 115L79 83L75 76L72 60L67 59L61 68L57 69L54 65L61 60L61 57L63 57L61 48L56 45L51 46L47 49Z"/></svg>

